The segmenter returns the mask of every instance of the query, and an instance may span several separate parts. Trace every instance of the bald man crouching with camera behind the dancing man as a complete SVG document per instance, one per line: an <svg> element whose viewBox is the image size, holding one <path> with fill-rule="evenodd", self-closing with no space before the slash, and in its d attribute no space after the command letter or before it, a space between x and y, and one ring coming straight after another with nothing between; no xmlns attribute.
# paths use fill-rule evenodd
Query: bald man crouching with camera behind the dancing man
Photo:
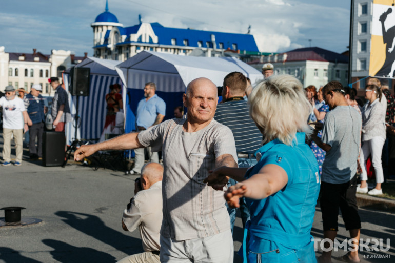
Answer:
<svg viewBox="0 0 395 263"><path fill-rule="evenodd" d="M134 231L140 228L143 253L131 255L118 263L160 262L160 230L162 225L163 167L148 163L141 169L141 176L134 183L134 197L122 218L122 228Z"/></svg>

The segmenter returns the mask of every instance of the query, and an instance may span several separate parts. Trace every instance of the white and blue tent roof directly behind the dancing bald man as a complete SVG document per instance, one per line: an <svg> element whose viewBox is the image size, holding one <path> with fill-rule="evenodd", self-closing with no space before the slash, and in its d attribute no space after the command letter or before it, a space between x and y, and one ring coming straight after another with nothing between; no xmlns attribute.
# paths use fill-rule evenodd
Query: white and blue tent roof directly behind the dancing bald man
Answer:
<svg viewBox="0 0 395 263"><path fill-rule="evenodd" d="M145 82L155 82L152 78L157 78L157 90L165 92L184 92L188 83L198 77L207 77L216 86L222 86L224 77L233 71L242 72L251 83L263 78L261 72L234 57L181 56L153 51L142 51L115 69L128 88L143 89Z"/></svg>

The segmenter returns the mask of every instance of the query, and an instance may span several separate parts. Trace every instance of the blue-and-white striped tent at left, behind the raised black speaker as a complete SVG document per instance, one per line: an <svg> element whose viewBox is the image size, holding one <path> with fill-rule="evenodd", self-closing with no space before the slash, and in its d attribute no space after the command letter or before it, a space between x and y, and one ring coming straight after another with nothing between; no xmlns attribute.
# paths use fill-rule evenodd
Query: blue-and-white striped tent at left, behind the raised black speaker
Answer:
<svg viewBox="0 0 395 263"><path fill-rule="evenodd" d="M77 138L96 139L102 134L106 120L106 94L110 92L110 85L121 84L115 66L120 62L116 60L87 57L76 67L90 68L89 96L78 99L78 115L81 124L78 125ZM69 93L70 75L64 73L63 81L69 94L70 111L73 119L76 114L76 97ZM66 126L66 142L68 145L75 139L75 120Z"/></svg>

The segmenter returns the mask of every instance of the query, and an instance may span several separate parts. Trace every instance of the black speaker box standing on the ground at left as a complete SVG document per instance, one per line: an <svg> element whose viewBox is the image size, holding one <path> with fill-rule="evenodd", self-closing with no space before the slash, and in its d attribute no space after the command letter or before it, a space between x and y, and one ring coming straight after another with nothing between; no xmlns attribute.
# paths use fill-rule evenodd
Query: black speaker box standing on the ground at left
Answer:
<svg viewBox="0 0 395 263"><path fill-rule="evenodd" d="M62 166L65 161L66 138L64 132L43 133L43 166Z"/></svg>

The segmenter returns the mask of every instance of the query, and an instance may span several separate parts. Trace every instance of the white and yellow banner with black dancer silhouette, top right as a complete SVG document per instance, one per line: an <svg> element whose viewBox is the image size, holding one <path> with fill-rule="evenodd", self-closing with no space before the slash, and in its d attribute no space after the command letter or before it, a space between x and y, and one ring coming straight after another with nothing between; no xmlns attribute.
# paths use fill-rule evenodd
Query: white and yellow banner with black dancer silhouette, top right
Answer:
<svg viewBox="0 0 395 263"><path fill-rule="evenodd" d="M369 75L395 78L395 1L374 0Z"/></svg>

